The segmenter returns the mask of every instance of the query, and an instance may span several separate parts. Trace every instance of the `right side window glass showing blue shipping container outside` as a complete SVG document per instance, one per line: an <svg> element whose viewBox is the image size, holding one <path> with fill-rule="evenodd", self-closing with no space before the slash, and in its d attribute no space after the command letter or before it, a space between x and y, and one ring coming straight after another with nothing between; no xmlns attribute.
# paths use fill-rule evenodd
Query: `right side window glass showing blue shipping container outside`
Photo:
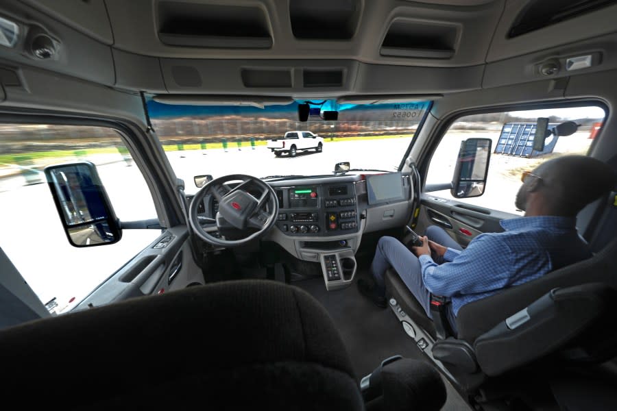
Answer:
<svg viewBox="0 0 617 411"><path fill-rule="evenodd" d="M431 194L483 208L522 215L523 212L514 206L516 192L521 184L522 171L531 171L542 162L560 155L586 155L605 115L602 108L584 106L495 112L461 117L452 123L433 153L426 175L426 184L443 184L452 181L461 141L474 137L490 138L492 154L483 195L456 199L450 195L450 190L435 191ZM526 144L529 147L527 136L524 133L510 133L510 136L507 136L508 130L516 130L518 127L521 130L531 129L531 125L535 125L539 117L548 118L549 127L564 121L574 121L579 127L577 132L571 136L557 138L549 136L545 140L544 151L540 153L524 149ZM513 136L514 134L516 137ZM533 134L529 138L533 141Z"/></svg>

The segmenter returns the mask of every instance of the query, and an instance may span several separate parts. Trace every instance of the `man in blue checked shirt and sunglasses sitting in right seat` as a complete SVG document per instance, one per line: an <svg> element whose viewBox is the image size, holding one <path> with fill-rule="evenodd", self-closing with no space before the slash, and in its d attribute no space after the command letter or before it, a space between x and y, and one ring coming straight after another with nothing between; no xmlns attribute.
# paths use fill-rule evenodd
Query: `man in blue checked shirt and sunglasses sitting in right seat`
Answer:
<svg viewBox="0 0 617 411"><path fill-rule="evenodd" d="M567 155L523 173L522 182L515 204L524 217L501 221L505 232L480 234L464 250L437 226L428 227L422 247L411 251L396 238L380 238L371 265L375 284L359 280L362 294L385 307L383 276L393 267L429 317L431 294L448 297L455 327L466 303L590 258L576 216L614 188L615 171L600 160Z"/></svg>

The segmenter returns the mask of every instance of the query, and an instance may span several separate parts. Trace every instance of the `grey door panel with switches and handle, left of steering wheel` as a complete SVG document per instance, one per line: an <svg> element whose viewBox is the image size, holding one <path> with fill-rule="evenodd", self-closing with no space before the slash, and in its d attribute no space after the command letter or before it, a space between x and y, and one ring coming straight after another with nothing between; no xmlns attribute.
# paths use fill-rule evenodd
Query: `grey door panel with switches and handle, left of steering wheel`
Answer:
<svg viewBox="0 0 617 411"><path fill-rule="evenodd" d="M152 244L77 304L74 310L156 295L195 283L204 284L204 277L193 261L189 230L184 225L177 226L162 232Z"/></svg>

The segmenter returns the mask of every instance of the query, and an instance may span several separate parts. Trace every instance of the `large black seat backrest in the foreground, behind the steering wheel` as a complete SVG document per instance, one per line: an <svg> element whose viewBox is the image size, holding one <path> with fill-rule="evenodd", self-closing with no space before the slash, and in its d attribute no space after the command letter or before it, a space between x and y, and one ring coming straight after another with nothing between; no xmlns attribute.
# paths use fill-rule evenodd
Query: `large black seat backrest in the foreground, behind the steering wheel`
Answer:
<svg viewBox="0 0 617 411"><path fill-rule="evenodd" d="M30 321L0 331L0 359L5 399L26 408L364 409L326 310L269 281Z"/></svg>

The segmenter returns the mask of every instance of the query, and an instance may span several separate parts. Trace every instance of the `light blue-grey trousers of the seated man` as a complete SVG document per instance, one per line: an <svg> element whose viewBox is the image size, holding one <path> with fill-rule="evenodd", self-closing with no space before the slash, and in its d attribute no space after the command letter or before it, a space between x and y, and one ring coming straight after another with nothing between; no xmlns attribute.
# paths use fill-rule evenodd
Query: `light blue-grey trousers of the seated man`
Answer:
<svg viewBox="0 0 617 411"><path fill-rule="evenodd" d="M444 247L457 250L463 249L458 242L452 240L452 238L448 236L448 233L446 233L444 229L437 227L437 225L431 225L426 228L425 235L429 240L433 240ZM433 253L433 261L437 262L437 264L444 262L443 258L435 256L435 253ZM426 315L432 319L431 292L424 286L422 268L418 257L396 238L384 236L380 238L377 243L377 249L371 264L371 273L375 279L378 290L383 294L385 294L383 276L385 271L390 267L398 273L404 284L409 288L409 291L411 291L411 294L413 294L413 297L415 297L422 308L424 308ZM450 306L450 311L448 312L448 320L452 327L455 327L455 316L452 312L452 306Z"/></svg>

